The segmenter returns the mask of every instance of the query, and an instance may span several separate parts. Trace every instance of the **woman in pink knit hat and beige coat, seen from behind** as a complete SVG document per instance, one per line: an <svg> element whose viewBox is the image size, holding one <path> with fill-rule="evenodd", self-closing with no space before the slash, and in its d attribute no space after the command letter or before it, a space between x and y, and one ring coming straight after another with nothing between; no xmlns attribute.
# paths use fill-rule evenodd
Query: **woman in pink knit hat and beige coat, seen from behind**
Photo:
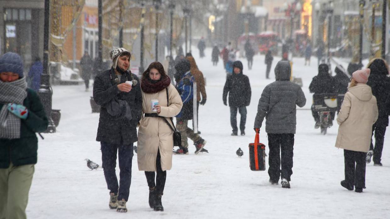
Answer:
<svg viewBox="0 0 390 219"><path fill-rule="evenodd" d="M336 147L344 149L342 187L361 193L365 188L365 157L370 148L372 124L378 118L376 98L366 85L370 69L353 72L348 92L344 96L337 123ZM356 163L356 168L355 168Z"/></svg>

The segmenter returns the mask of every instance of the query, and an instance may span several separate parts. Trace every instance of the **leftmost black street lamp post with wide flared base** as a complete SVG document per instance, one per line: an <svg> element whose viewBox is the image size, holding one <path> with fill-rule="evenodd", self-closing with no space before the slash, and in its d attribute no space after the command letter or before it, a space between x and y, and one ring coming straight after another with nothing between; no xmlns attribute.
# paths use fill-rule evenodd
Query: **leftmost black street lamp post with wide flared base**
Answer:
<svg viewBox="0 0 390 219"><path fill-rule="evenodd" d="M48 129L45 132L55 132L55 124L51 118L52 95L49 75L49 25L50 25L50 0L44 2L44 31L43 31L43 73L41 75L41 87L38 94L43 103L46 116L49 120Z"/></svg>

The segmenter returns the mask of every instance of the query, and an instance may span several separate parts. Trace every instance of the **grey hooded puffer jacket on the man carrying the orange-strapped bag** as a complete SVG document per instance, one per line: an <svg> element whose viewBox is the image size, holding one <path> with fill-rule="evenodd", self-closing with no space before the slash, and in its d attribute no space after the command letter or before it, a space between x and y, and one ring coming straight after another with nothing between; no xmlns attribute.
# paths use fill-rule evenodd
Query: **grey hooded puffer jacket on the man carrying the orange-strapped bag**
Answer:
<svg viewBox="0 0 390 219"><path fill-rule="evenodd" d="M296 130L296 105L306 104L301 87L292 83L289 61L279 61L275 67L276 81L267 85L259 99L255 128L261 128L266 118L267 133L292 133Z"/></svg>

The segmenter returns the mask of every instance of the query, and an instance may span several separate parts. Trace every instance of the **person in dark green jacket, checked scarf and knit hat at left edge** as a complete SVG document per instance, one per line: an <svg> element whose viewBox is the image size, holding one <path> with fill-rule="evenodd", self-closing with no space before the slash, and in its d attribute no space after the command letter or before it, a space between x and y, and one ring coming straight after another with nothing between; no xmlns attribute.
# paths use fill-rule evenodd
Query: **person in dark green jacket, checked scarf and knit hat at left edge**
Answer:
<svg viewBox="0 0 390 219"><path fill-rule="evenodd" d="M0 57L0 218L26 219L28 193L37 163L36 132L48 128L38 94L27 88L16 53Z"/></svg>

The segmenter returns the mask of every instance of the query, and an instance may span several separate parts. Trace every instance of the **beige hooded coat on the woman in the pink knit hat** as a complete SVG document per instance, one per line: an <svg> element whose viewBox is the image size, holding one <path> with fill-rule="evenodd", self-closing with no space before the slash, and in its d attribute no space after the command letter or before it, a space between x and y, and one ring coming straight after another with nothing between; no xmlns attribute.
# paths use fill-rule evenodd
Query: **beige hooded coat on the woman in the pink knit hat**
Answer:
<svg viewBox="0 0 390 219"><path fill-rule="evenodd" d="M358 83L355 87L348 88L337 117L340 126L335 147L368 152L372 125L377 118L378 106L371 87Z"/></svg>

